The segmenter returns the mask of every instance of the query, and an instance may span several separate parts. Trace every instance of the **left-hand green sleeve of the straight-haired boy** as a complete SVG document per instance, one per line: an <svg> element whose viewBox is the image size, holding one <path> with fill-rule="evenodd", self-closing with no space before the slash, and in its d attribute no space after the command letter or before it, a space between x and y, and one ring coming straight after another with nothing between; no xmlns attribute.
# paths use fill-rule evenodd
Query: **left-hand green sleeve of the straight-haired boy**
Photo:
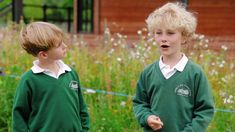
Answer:
<svg viewBox="0 0 235 132"><path fill-rule="evenodd" d="M21 80L13 103L13 132L28 131L28 119L30 115L31 93L30 86L26 80Z"/></svg>

